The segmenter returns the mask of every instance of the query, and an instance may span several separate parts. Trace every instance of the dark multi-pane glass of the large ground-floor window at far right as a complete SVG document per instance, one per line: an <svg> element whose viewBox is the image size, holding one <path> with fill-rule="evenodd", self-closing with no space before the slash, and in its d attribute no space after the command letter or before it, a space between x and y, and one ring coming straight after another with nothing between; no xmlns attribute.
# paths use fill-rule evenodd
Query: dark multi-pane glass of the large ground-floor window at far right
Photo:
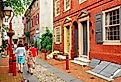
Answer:
<svg viewBox="0 0 121 82"><path fill-rule="evenodd" d="M105 13L105 39L120 40L119 9Z"/></svg>

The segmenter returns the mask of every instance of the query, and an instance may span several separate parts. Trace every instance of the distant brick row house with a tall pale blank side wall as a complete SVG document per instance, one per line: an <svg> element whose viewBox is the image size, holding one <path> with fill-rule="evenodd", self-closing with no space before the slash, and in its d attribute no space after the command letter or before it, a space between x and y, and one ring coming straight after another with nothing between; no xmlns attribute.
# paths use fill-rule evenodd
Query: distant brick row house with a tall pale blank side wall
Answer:
<svg viewBox="0 0 121 82"><path fill-rule="evenodd" d="M33 0L25 12L25 31L30 31L31 42L38 40L46 27L53 27L53 4L52 0ZM26 38L27 39L27 38ZM38 41L39 42L39 41Z"/></svg>

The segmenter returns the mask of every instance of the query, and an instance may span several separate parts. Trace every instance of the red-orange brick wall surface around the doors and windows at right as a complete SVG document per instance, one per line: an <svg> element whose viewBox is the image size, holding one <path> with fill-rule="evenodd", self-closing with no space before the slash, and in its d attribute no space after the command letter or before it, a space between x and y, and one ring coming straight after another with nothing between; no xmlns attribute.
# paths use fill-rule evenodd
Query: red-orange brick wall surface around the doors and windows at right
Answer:
<svg viewBox="0 0 121 82"><path fill-rule="evenodd" d="M54 0L55 1L55 0ZM87 0L86 2L79 4L79 0L71 0L71 9L67 12L64 12L64 0L60 0L61 12L60 15L55 17L54 15L54 27L58 24L58 21L61 22L63 28L63 21L65 17L72 18L71 23L74 20L78 20L77 16L81 10L87 10L89 12L90 22L92 25L89 27L90 30L90 49L89 57L98 58L101 60L107 60L115 63L121 64L121 46L120 45L102 45L97 44L95 40L95 15L101 11L121 6L121 0ZM55 6L54 6L55 7ZM64 30L62 30L62 36ZM74 42L74 41L73 41ZM72 43L73 43L72 42ZM61 47L60 47L61 46ZM54 44L54 49L64 50L64 37L62 38L61 45Z"/></svg>

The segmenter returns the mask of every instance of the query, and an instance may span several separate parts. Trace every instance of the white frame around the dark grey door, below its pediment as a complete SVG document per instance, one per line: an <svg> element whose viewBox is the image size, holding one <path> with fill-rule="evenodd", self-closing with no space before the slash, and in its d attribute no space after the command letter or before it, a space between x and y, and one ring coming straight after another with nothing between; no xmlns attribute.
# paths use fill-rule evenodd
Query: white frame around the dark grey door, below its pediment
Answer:
<svg viewBox="0 0 121 82"><path fill-rule="evenodd" d="M83 26L81 24L81 22L83 21L87 21L87 42L88 42L88 50L87 50L87 56L83 55ZM81 18L78 20L78 32L79 32L79 57L86 57L89 58L89 46L90 46L90 42L89 42L89 16Z"/></svg>

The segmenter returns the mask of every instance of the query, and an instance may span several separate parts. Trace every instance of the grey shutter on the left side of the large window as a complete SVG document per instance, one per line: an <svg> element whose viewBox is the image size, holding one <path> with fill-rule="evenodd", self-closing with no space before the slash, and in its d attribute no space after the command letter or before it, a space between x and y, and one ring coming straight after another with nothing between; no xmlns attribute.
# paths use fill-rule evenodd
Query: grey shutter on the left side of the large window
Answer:
<svg viewBox="0 0 121 82"><path fill-rule="evenodd" d="M96 42L103 43L102 12L96 15Z"/></svg>

